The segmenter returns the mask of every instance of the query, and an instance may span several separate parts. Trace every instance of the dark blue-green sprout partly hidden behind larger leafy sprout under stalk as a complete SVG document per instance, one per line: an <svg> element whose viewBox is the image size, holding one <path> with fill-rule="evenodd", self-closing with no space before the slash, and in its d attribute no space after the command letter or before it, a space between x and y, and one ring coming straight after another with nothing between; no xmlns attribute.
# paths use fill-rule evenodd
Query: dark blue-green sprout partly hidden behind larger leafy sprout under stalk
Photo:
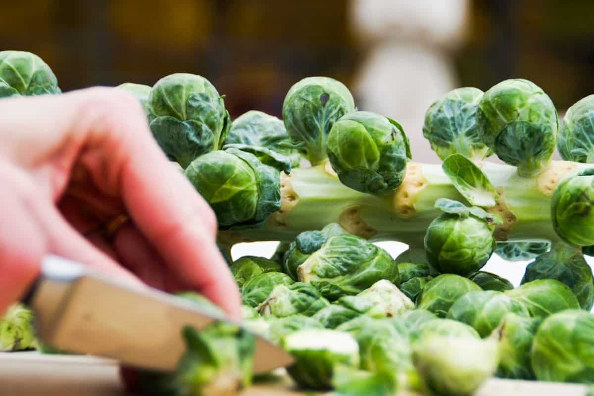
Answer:
<svg viewBox="0 0 594 396"><path fill-rule="evenodd" d="M336 235L345 235L346 230L336 223L330 223L320 231L305 231L300 233L289 245L285 254L283 269L294 280L297 280L297 267L309 258L309 255L318 251L328 238Z"/></svg>

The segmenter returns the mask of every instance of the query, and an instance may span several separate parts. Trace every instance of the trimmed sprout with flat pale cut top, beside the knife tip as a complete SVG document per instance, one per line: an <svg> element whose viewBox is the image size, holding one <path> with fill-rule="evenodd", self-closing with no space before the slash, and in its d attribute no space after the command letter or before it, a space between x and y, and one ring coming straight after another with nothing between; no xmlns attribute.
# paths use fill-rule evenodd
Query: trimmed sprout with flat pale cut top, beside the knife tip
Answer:
<svg viewBox="0 0 594 396"><path fill-rule="evenodd" d="M287 372L305 388L329 389L337 366L359 366L359 346L347 332L298 330L285 337L283 347L295 359Z"/></svg>

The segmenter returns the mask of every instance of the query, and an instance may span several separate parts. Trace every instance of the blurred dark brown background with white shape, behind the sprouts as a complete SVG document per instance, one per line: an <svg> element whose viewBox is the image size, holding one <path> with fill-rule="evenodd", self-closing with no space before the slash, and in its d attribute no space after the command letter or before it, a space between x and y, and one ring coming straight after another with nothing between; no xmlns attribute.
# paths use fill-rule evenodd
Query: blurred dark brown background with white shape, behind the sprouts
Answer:
<svg viewBox="0 0 594 396"><path fill-rule="evenodd" d="M280 117L290 85L326 75L352 90L359 109L402 123L416 161L438 162L422 123L429 105L453 88L487 90L506 78L527 78L551 96L560 115L594 93L592 0L0 4L0 47L37 53L64 91L153 85L173 72L191 72L226 95L232 118L250 109ZM380 245L394 256L406 249ZM271 255L275 246L239 244L233 256ZM518 284L523 264L494 255L484 269Z"/></svg>

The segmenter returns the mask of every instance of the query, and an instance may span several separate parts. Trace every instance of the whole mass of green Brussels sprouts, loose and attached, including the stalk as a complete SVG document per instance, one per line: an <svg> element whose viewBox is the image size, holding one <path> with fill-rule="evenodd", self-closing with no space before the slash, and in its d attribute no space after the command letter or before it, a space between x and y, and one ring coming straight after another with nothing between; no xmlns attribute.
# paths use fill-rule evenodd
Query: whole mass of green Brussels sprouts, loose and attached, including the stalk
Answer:
<svg viewBox="0 0 594 396"><path fill-rule="evenodd" d="M560 123L528 80L450 91L422 128L434 165L412 161L402 126L358 110L332 78L293 85L282 120L251 110L232 121L194 74L118 89L213 208L245 328L295 357L286 370L299 387L462 396L493 376L594 382L594 95ZM37 56L0 52L0 96L60 92ZM255 240L280 243L232 261L233 244ZM381 240L409 249L393 258ZM531 261L519 287L482 271L492 254ZM10 341L26 339L11 312L2 345L29 347ZM249 332L217 323L184 337L176 373L142 373L147 394L230 394L260 379Z"/></svg>

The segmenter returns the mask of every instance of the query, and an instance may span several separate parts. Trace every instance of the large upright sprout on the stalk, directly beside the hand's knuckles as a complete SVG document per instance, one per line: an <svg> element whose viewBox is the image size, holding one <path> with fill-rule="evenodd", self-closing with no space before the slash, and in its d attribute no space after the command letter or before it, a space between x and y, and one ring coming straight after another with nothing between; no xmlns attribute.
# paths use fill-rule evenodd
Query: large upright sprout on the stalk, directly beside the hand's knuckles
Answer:
<svg viewBox="0 0 594 396"><path fill-rule="evenodd" d="M225 100L200 75L161 78L150 91L147 109L157 143L184 169L202 154L219 150L231 126Z"/></svg>

